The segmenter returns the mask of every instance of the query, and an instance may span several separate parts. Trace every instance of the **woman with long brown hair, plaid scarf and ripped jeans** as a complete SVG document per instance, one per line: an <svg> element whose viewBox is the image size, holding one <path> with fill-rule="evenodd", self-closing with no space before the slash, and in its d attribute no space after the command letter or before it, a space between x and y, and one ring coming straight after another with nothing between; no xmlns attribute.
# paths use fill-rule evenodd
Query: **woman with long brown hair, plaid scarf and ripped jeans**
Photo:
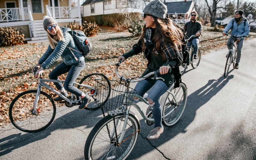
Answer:
<svg viewBox="0 0 256 160"><path fill-rule="evenodd" d="M162 107L158 100L169 89L173 83L179 83L179 66L182 62L181 40L183 32L175 26L173 21L166 16L167 7L160 0L150 2L145 6L145 20L143 34L137 44L134 44L132 50L118 57L118 60L126 60L133 55L143 52L143 58L147 58L147 68L142 77L149 72L160 70L160 76L157 80L145 79L138 82L135 86L137 94L143 96L148 92L149 110L151 109L155 126L148 135L149 140L157 139L164 131L161 124ZM169 69L171 72L168 72ZM136 99L135 99L136 100Z"/></svg>

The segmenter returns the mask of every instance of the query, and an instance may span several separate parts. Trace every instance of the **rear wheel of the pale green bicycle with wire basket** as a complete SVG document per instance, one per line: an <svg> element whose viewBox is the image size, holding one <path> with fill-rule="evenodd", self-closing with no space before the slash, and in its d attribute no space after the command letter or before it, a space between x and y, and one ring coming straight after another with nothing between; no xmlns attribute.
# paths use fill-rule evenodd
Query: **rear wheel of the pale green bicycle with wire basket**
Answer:
<svg viewBox="0 0 256 160"><path fill-rule="evenodd" d="M176 99L178 105L172 111L172 113L163 118L162 124L166 127L172 126L179 121L187 104L188 91L186 84L180 83L180 87L175 89L172 88L171 92L174 97L171 93L168 93L168 95L166 96L163 107L163 116L171 112L176 107L174 98Z"/></svg>

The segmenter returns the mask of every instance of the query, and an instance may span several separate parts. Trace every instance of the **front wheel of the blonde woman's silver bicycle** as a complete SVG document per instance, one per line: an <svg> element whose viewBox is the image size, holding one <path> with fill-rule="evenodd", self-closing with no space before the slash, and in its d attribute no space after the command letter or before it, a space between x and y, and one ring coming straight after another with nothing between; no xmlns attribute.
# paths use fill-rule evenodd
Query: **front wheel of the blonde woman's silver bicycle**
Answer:
<svg viewBox="0 0 256 160"><path fill-rule="evenodd" d="M32 114L37 90L28 90L18 94L9 107L9 118L11 123L23 132L39 132L47 128L54 120L56 106L45 92L40 92L37 103L38 112Z"/></svg>

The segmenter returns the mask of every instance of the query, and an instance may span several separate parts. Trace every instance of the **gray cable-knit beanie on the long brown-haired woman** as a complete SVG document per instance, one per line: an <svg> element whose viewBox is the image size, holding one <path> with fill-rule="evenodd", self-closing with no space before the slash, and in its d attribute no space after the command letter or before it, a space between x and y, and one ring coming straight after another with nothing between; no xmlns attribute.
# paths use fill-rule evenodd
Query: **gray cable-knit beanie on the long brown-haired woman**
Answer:
<svg viewBox="0 0 256 160"><path fill-rule="evenodd" d="M165 19L167 13L167 6L163 4L160 0L155 0L146 5L143 12L157 18Z"/></svg>

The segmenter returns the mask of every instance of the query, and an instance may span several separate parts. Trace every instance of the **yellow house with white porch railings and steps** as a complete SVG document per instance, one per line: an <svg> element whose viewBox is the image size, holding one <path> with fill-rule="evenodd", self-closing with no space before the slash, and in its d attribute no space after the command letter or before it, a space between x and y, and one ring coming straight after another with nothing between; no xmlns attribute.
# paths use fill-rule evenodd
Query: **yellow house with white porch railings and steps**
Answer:
<svg viewBox="0 0 256 160"><path fill-rule="evenodd" d="M45 15L55 18L60 27L82 22L80 7L71 6L71 0L0 0L0 27L22 29L28 43L47 41Z"/></svg>

